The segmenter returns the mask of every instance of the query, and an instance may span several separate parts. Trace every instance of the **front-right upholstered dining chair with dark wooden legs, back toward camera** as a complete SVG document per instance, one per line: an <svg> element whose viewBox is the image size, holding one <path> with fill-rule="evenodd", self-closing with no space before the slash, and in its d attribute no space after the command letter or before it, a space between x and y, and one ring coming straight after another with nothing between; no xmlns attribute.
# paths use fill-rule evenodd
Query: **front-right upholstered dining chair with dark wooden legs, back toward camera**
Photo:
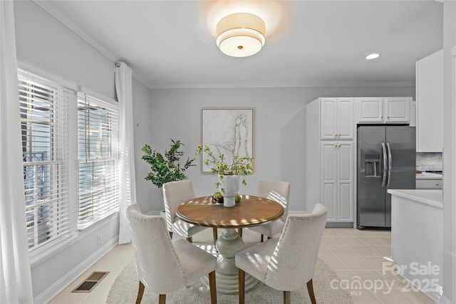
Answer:
<svg viewBox="0 0 456 304"><path fill-rule="evenodd" d="M316 204L311 214L289 215L279 239L237 253L239 304L244 304L245 273L283 291L285 304L290 303L291 291L307 284L311 302L316 303L312 277L327 213L326 206Z"/></svg>

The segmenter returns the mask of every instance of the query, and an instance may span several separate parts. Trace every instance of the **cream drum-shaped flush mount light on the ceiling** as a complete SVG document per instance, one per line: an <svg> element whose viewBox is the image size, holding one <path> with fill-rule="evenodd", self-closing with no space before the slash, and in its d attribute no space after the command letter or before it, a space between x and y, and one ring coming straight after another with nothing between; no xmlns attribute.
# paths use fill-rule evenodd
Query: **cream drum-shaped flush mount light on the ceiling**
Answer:
<svg viewBox="0 0 456 304"><path fill-rule="evenodd" d="M217 23L217 46L233 57L252 56L264 46L266 25L254 14L237 13L225 16Z"/></svg>

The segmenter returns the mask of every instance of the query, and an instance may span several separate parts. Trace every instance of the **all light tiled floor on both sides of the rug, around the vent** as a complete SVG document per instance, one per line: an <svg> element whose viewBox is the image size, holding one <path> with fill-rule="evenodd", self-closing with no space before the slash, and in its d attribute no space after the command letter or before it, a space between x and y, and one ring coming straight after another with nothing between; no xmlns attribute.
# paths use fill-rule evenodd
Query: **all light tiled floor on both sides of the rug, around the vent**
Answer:
<svg viewBox="0 0 456 304"><path fill-rule="evenodd" d="M390 263L390 243L390 231L325 229L318 255L338 273L340 281L334 282L334 288L354 287L350 292L355 304L434 303L423 293L404 291L409 288L402 277L383 271L383 263ZM50 303L105 303L110 285L132 259L129 244L116 246ZM91 293L71 293L93 271L110 273ZM356 283L364 288L356 288Z"/></svg>

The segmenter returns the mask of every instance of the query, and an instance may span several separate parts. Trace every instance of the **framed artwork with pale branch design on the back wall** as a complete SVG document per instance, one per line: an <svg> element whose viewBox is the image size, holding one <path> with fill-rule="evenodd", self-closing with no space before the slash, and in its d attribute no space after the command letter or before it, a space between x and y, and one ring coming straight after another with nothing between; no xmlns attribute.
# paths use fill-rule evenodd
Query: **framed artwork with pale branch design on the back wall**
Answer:
<svg viewBox="0 0 456 304"><path fill-rule="evenodd" d="M202 109L202 147L207 145L216 157L223 153L228 164L234 155L254 157L253 128L253 109ZM206 158L202 153L202 172L210 172Z"/></svg>

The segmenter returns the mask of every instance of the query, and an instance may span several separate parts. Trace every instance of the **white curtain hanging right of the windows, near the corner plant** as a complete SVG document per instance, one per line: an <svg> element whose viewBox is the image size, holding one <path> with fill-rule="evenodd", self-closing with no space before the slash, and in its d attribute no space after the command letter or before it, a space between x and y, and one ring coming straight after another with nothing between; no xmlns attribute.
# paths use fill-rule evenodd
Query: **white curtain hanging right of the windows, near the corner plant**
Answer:
<svg viewBox="0 0 456 304"><path fill-rule="evenodd" d="M133 150L132 72L125 63L115 63L115 90L119 100L119 243L128 243L131 237L126 211L130 204L136 204L136 186L135 152Z"/></svg>

